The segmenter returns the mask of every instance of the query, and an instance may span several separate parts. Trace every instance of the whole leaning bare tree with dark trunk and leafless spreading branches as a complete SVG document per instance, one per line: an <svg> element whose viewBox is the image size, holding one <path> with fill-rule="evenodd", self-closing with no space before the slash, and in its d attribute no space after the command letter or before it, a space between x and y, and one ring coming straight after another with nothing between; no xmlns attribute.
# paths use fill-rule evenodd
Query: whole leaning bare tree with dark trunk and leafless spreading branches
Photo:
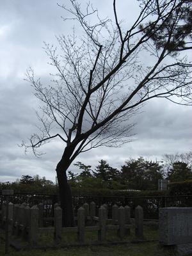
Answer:
<svg viewBox="0 0 192 256"><path fill-rule="evenodd" d="M61 8L71 17L63 19L74 20L84 33L77 36L74 29L72 35L58 36L61 54L45 44L50 64L56 68L51 86L44 86L33 70L28 70L27 80L43 102L42 115L38 114L42 127L40 134L31 136L29 145L22 143L26 149L32 147L38 156L36 149L49 140L58 137L63 141L63 156L56 173L64 226L74 225L66 172L81 152L129 142L134 125L130 118L150 99L191 104L191 64L179 56L177 47L170 49L173 37L180 40L175 39L175 29L189 1L142 0L138 17L126 29L118 19L115 0L114 20L100 19L92 4L82 10L76 0L68 2L70 7ZM160 34L163 43L157 44L162 40L157 37ZM53 133L54 125L60 133Z"/></svg>

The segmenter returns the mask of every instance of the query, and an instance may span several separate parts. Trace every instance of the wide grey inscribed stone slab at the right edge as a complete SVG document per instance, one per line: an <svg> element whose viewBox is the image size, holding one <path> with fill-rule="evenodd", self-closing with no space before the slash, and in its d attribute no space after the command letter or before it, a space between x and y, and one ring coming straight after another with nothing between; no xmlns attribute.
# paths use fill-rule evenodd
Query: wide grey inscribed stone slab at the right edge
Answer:
<svg viewBox="0 0 192 256"><path fill-rule="evenodd" d="M192 208L159 208L159 243L192 243Z"/></svg>

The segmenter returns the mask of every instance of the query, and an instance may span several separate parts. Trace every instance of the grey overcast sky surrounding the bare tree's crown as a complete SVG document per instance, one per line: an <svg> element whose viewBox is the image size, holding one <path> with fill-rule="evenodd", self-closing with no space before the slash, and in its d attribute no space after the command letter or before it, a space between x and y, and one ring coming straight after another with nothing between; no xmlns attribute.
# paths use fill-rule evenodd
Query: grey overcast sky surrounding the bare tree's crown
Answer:
<svg viewBox="0 0 192 256"><path fill-rule="evenodd" d="M110 15L112 0L92 1L101 15ZM137 1L117 1L118 13L134 19ZM35 68L36 76L49 76L43 42L56 44L55 35L68 35L72 26L63 22L63 10L53 0L10 0L0 2L0 181L13 181L21 175L40 175L55 180L56 164L63 144L54 140L47 144L42 158L32 152L24 154L17 145L27 140L35 130L35 109L39 102L31 86L24 81L26 69ZM63 3L59 1L59 3ZM191 53L189 53L191 54ZM191 58L191 56L189 56ZM159 161L163 154L192 150L192 107L179 106L163 99L149 102L136 117L134 141L122 148L96 148L81 154L76 161L95 168L100 159L120 168L129 157L143 156ZM76 169L72 165L70 170Z"/></svg>

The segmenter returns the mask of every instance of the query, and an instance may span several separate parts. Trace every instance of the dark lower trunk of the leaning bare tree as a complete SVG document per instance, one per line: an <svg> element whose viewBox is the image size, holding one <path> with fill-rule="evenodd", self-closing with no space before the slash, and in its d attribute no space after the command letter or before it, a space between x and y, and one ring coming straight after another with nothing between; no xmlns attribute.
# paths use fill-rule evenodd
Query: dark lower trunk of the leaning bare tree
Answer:
<svg viewBox="0 0 192 256"><path fill-rule="evenodd" d="M65 160L65 161L64 161ZM63 209L63 227L74 227L74 209L72 204L72 193L67 182L68 164L65 157L61 159L56 168L58 185L60 191L61 208Z"/></svg>

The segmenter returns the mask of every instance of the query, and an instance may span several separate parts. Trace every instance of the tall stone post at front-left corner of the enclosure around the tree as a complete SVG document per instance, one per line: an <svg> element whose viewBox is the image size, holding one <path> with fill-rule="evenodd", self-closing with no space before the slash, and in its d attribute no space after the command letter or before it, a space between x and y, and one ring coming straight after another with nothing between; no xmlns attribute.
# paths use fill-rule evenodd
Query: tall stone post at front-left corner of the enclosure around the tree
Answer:
<svg viewBox="0 0 192 256"><path fill-rule="evenodd" d="M38 241L38 207L33 205L30 209L29 241L31 246Z"/></svg>

